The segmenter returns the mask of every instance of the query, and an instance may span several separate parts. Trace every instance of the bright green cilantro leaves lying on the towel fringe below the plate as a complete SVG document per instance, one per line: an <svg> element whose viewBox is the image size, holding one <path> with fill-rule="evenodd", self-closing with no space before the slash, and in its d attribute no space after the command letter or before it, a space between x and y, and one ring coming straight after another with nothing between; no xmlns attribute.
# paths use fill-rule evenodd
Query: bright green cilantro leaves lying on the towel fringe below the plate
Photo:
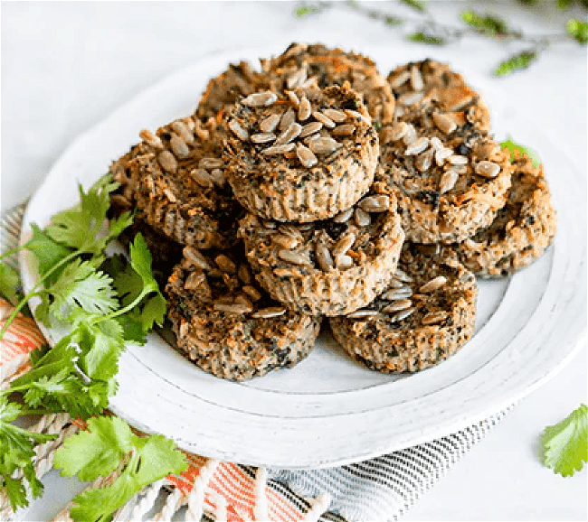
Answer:
<svg viewBox="0 0 588 522"><path fill-rule="evenodd" d="M53 462L63 476L96 480L116 471L123 458L126 464L109 486L86 490L73 499L71 517L80 522L108 520L145 486L188 466L184 454L164 436L140 437L115 416L90 418L88 431L68 437Z"/></svg>

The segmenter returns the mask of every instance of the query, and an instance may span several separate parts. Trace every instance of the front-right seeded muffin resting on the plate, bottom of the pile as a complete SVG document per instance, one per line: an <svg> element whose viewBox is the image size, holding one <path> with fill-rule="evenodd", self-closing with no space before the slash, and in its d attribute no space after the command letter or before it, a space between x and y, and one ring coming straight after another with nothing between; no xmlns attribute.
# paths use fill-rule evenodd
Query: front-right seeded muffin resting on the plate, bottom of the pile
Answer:
<svg viewBox="0 0 588 522"><path fill-rule="evenodd" d="M384 373L439 364L469 340L478 287L460 263L406 243L392 284L346 317L331 317L333 336L351 357Z"/></svg>

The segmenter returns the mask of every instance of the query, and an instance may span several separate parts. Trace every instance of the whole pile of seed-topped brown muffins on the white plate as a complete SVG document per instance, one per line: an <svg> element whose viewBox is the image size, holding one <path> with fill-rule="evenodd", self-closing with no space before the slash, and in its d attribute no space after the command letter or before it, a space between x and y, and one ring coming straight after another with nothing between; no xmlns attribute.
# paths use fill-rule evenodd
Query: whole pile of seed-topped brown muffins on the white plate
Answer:
<svg viewBox="0 0 588 522"><path fill-rule="evenodd" d="M194 115L110 168L165 284L177 346L243 380L308 356L328 318L368 368L415 371L469 339L480 275L555 234L542 169L501 150L488 108L435 61L292 44L211 79Z"/></svg>

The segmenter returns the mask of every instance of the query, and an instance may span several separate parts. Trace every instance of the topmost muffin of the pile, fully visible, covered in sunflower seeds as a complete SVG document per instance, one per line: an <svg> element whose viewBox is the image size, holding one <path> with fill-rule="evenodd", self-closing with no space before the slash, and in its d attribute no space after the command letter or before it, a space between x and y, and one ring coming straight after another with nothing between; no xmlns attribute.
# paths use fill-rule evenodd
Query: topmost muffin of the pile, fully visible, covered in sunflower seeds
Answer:
<svg viewBox="0 0 588 522"><path fill-rule="evenodd" d="M243 98L226 143L235 198L264 219L308 222L353 205L373 182L377 133L346 87Z"/></svg>

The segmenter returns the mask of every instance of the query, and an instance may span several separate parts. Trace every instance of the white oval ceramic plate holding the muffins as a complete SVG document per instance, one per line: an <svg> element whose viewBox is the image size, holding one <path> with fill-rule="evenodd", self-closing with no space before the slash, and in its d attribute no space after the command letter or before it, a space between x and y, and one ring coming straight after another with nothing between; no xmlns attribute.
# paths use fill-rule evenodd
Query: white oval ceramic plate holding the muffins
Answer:
<svg viewBox="0 0 588 522"><path fill-rule="evenodd" d="M232 61L270 51L219 54L175 73L131 100L76 140L55 163L24 217L41 227L78 198L112 160L155 130L190 114L206 82ZM367 49L383 71L384 48ZM480 88L483 82L473 82ZM482 86L483 87L483 86ZM483 89L482 89L483 90ZM451 359L409 376L360 367L324 335L296 368L238 384L213 378L152 335L128 346L111 409L149 433L225 461L309 468L359 461L452 433L513 404L562 368L586 322L585 179L536 126L493 107L498 139L507 134L540 152L558 210L555 244L536 264L502 281L481 282L476 333ZM506 123L505 123L506 120ZM34 263L22 256L30 288ZM43 326L43 325L42 325ZM45 331L53 339L58 332Z"/></svg>

